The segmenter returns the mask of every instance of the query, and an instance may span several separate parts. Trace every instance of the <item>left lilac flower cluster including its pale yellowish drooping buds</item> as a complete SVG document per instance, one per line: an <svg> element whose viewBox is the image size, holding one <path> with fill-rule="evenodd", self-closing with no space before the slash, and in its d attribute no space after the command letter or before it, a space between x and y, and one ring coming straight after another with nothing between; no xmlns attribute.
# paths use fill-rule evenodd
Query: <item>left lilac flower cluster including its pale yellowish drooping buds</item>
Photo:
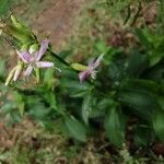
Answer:
<svg viewBox="0 0 164 164"><path fill-rule="evenodd" d="M37 82L39 81L39 68L50 68L54 67L54 62L49 61L40 61L42 57L45 55L45 52L48 49L49 42L46 39L40 44L40 48L38 51L36 49L38 48L37 44L33 44L28 51L19 51L16 50L19 55L17 66L14 67L11 72L9 73L5 85L9 85L10 81L13 80L14 82L19 79L23 67L26 68L24 75L28 77L33 70L36 72L36 79ZM54 67L58 71L61 71L60 69Z"/></svg>

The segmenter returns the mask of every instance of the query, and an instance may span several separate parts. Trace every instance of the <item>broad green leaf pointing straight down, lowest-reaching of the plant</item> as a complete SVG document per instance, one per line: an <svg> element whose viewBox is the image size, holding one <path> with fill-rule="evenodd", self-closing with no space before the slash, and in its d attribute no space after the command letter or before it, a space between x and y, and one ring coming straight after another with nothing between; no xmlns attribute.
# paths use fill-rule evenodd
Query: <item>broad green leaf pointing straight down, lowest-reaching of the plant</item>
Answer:
<svg viewBox="0 0 164 164"><path fill-rule="evenodd" d="M125 116L117 105L112 106L105 118L105 130L110 142L121 147L125 141Z"/></svg>

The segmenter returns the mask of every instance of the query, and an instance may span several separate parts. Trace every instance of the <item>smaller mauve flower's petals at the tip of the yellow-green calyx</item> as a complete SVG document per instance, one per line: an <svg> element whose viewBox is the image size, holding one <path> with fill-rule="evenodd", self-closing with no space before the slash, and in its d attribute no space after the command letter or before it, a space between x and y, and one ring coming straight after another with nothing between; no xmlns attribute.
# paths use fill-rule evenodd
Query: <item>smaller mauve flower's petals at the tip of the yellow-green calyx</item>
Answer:
<svg viewBox="0 0 164 164"><path fill-rule="evenodd" d="M87 69L85 69L79 73L80 82L84 82L89 77L91 77L92 79L95 79L95 77L96 77L95 69L99 66L103 57L104 57L104 54L99 55L99 57L95 61L91 61L87 65Z"/></svg>

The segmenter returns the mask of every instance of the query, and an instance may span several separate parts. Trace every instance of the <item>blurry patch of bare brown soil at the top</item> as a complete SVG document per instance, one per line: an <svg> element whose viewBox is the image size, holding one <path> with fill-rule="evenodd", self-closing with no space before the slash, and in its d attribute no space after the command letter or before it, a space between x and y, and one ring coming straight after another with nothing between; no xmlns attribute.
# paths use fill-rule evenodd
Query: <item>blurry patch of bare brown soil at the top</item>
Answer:
<svg viewBox="0 0 164 164"><path fill-rule="evenodd" d="M33 19L33 28L49 36L55 50L59 50L71 33L86 0L50 0Z"/></svg>

